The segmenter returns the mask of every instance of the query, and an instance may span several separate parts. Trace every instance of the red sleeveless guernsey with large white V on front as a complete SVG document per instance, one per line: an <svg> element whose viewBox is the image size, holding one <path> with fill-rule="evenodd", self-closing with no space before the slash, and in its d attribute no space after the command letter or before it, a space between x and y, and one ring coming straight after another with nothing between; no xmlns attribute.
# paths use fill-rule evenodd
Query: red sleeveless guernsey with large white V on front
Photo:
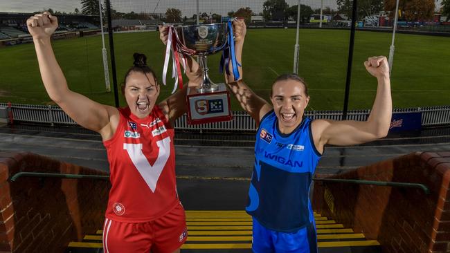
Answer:
<svg viewBox="0 0 450 253"><path fill-rule="evenodd" d="M127 107L107 149L111 190L105 216L113 221L153 221L179 203L175 181L174 129L159 106L147 118Z"/></svg>

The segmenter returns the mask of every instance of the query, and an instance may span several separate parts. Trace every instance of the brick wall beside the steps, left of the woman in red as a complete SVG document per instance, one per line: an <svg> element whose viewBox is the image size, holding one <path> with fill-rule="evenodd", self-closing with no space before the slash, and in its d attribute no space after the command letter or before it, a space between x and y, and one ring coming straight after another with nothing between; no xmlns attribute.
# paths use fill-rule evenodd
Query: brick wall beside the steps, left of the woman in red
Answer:
<svg viewBox="0 0 450 253"><path fill-rule="evenodd" d="M102 227L109 181L8 178L19 171L107 175L33 153L0 152L0 252L64 252Z"/></svg>

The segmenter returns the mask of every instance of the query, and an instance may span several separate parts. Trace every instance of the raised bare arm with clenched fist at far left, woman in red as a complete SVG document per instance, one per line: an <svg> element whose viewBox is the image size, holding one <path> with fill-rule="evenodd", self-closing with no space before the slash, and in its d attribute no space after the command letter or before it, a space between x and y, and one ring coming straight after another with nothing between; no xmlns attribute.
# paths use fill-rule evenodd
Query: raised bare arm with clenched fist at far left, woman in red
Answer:
<svg viewBox="0 0 450 253"><path fill-rule="evenodd" d="M110 121L118 123L118 110L94 102L84 95L69 90L67 86L66 78L51 46L51 35L58 26L57 18L49 12L44 12L30 17L26 24L35 43L42 82L51 100L82 127L100 133L104 140L111 138L114 130L110 126Z"/></svg>

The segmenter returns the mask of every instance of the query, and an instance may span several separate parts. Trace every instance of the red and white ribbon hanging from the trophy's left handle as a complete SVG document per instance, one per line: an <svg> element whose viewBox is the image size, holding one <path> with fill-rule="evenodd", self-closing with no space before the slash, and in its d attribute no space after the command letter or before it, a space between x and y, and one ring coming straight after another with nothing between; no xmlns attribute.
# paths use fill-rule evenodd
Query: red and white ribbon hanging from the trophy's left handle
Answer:
<svg viewBox="0 0 450 253"><path fill-rule="evenodd" d="M177 36L175 35L174 27L168 27L168 41L165 47L165 58L164 58L164 68L163 68L163 84L166 85L166 76L168 73L168 66L170 60L170 54L172 53L172 78L175 79L174 89L172 94L177 91L178 83L180 88L183 88L183 76L181 75L180 62L183 66L184 72L186 73L186 59L178 53L177 49Z"/></svg>

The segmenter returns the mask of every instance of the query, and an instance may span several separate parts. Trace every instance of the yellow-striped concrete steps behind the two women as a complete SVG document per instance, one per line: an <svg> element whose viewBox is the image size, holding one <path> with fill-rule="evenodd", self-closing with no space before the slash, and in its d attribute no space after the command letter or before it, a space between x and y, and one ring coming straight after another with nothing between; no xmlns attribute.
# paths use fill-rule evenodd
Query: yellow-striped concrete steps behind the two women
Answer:
<svg viewBox="0 0 450 253"><path fill-rule="evenodd" d="M329 220L320 214L316 218L318 252L379 253L377 241ZM186 211L188 241L183 253L251 252L251 216L244 211ZM66 253L94 253L102 250L102 230L86 235L82 242L69 243Z"/></svg>

